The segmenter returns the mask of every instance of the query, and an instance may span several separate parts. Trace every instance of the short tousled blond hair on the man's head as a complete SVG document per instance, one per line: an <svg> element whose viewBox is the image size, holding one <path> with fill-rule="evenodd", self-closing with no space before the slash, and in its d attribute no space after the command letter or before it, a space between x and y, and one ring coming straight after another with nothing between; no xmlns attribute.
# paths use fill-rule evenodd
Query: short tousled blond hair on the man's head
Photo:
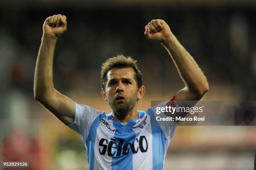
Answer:
<svg viewBox="0 0 256 170"><path fill-rule="evenodd" d="M102 89L105 89L106 75L108 71L110 71L111 69L127 68L127 67L133 68L135 72L134 79L137 82L138 88L140 88L142 86L143 79L142 79L141 71L138 68L137 61L131 58L130 56L126 57L126 56L123 56L123 54L119 54L115 57L108 58L104 63L102 63L101 73L100 73Z"/></svg>

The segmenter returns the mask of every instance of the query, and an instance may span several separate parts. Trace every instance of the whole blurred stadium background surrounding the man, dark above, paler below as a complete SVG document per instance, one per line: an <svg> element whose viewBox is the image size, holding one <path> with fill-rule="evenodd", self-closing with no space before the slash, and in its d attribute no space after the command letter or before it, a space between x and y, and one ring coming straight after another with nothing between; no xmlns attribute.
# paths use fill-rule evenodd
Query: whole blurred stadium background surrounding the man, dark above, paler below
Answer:
<svg viewBox="0 0 256 170"><path fill-rule="evenodd" d="M203 100L256 100L255 0L0 1L0 160L30 169L87 169L79 136L33 99L33 74L45 18L67 16L56 45L54 85L79 104L110 112L100 65L117 54L138 60L146 86L140 110L168 100L183 83L165 49L143 35L161 18L204 71ZM180 126L166 170L252 170L256 127Z"/></svg>

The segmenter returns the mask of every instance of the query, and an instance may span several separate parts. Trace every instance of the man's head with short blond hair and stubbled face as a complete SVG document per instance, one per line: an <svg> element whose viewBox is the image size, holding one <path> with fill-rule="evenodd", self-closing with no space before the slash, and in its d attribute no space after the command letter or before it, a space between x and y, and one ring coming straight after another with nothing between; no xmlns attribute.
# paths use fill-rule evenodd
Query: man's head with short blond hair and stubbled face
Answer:
<svg viewBox="0 0 256 170"><path fill-rule="evenodd" d="M137 61L118 55L101 67L102 97L120 118L125 118L145 93Z"/></svg>

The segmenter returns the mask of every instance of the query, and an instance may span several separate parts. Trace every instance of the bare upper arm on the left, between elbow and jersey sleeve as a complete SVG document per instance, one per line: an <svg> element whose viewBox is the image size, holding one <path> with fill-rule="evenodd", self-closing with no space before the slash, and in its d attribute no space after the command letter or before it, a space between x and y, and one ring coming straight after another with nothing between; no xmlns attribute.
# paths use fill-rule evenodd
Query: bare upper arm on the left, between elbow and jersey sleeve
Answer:
<svg viewBox="0 0 256 170"><path fill-rule="evenodd" d="M54 90L53 93L44 96L43 99L38 99L38 101L64 124L70 124L74 121L74 101L67 96Z"/></svg>

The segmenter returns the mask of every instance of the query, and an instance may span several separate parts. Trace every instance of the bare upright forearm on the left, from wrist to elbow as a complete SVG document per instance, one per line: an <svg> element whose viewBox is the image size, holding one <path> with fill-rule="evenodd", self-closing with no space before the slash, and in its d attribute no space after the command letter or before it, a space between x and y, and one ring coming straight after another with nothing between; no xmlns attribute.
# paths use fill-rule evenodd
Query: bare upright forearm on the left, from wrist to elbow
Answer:
<svg viewBox="0 0 256 170"><path fill-rule="evenodd" d="M55 44L56 38L42 37L34 77L34 96L36 99L42 99L54 92L52 66Z"/></svg>

